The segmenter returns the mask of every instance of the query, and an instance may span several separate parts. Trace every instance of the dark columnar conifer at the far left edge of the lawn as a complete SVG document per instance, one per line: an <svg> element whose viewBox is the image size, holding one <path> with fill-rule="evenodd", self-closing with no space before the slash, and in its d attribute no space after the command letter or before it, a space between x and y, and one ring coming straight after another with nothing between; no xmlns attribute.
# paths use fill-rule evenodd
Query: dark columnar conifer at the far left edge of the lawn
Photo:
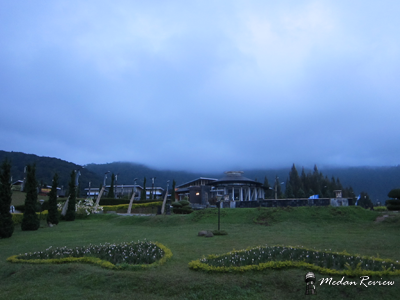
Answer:
<svg viewBox="0 0 400 300"><path fill-rule="evenodd" d="M0 170L0 238L9 238L14 232L14 222L10 213L11 205L11 163L4 160Z"/></svg>

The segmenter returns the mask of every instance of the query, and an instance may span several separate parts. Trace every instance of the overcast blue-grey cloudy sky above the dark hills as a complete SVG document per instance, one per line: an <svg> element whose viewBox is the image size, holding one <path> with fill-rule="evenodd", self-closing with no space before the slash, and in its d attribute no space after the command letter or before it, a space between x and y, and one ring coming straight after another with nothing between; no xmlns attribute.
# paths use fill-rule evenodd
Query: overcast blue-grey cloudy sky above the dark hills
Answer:
<svg viewBox="0 0 400 300"><path fill-rule="evenodd" d="M400 2L0 0L0 150L397 165Z"/></svg>

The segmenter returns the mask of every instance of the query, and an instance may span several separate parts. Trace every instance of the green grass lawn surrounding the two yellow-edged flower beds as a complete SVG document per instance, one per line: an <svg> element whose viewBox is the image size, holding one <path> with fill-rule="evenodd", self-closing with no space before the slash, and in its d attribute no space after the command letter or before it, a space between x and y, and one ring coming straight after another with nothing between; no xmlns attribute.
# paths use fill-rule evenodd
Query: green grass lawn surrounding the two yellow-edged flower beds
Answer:
<svg viewBox="0 0 400 300"><path fill-rule="evenodd" d="M61 222L53 228L43 223L34 232L23 232L17 226L11 238L0 240L0 299L299 299L305 297L306 269L214 274L189 270L188 263L203 255L263 244L302 245L393 260L400 258L398 216L376 223L379 212L357 207L223 209L221 229L228 235L198 237L200 230L217 228L216 212L214 209L191 215L155 217L104 214ZM170 248L172 259L164 266L143 271L112 271L84 264L6 262L11 255L49 246L74 247L144 239ZM316 273L316 277L318 280L331 276ZM351 280L359 281L358 278ZM394 286L318 284L314 297L398 299L400 277L390 277L390 280L395 281Z"/></svg>

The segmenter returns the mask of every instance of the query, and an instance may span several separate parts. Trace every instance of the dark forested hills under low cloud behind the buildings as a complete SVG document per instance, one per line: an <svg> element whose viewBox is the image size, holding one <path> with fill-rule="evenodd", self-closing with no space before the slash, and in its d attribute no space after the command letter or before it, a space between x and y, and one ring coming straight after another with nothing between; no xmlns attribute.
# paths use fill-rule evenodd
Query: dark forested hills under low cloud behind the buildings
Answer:
<svg viewBox="0 0 400 300"><path fill-rule="evenodd" d="M223 171L219 173L190 173L185 171L156 170L137 163L113 162L107 164L88 164L79 166L58 158L40 157L33 154L21 152L6 152L0 150L0 161L6 157L11 160L13 180L23 179L24 167L27 164L36 163L36 176L39 183L51 184L55 172L60 176L60 186L67 187L72 170L80 169L81 191L88 186L89 181L92 187L99 187L103 183L104 173L110 171L118 174L117 184L133 184L137 178L137 184L143 185L143 178L147 179L147 187L151 186L151 178L155 177L155 185L163 188L167 185L167 180L175 179L177 185L198 177L221 178ZM299 176L302 173L302 166L296 166ZM228 171L228 170L224 170ZM290 165L281 169L258 169L244 170L244 176L256 179L264 183L267 178L269 185L273 186L278 177L282 192L286 190L287 180L290 180ZM305 174L311 174L314 170L304 169ZM362 191L367 192L373 202L387 200L387 193L393 188L400 188L400 166L394 167L352 167L352 168L323 168L319 170L323 177L329 181L334 177L335 181L340 180L343 188L352 187L357 196ZM110 184L111 173L108 176L107 184ZM310 191L304 191L305 194ZM315 192L315 191L313 191ZM322 195L321 195L322 196Z"/></svg>

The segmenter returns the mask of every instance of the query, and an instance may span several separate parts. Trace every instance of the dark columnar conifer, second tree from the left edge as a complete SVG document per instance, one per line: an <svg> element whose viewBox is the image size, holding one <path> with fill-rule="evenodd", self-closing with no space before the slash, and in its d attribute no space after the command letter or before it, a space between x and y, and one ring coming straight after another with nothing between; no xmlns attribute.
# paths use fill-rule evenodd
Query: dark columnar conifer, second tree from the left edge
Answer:
<svg viewBox="0 0 400 300"><path fill-rule="evenodd" d="M40 220L36 214L37 204L37 181L35 165L26 167L26 184L25 189L25 211L21 222L22 230L38 230Z"/></svg>

